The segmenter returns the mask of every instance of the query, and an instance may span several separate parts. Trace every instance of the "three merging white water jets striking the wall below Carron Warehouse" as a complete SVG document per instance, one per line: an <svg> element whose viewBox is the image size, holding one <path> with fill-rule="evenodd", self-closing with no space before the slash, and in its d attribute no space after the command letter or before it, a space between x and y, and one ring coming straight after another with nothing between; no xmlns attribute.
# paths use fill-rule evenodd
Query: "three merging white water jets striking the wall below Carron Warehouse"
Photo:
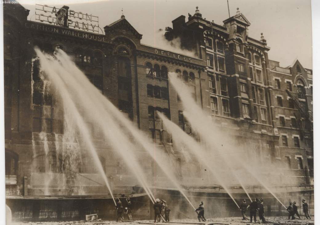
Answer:
<svg viewBox="0 0 320 225"><path fill-rule="evenodd" d="M45 71L48 78L52 81L55 88L58 90L58 93L61 95L61 99L64 101L64 105L67 106L65 107L65 111L71 111L73 115L76 115L76 124L84 138L85 144L89 146L91 153L93 155L97 155L92 140L90 139L90 134L87 131L88 129L83 121L86 117L90 117L94 120L95 125L100 128L100 131L104 134L108 142L111 143L115 150L117 150L116 152L120 153L122 159L126 162L126 164L131 167L131 170L136 175L139 183L145 189L151 201L154 202L155 197L148 187L146 178L144 177L144 173L142 172L140 165L134 155L137 148L136 146L134 146L132 140L127 137L129 135L126 135L128 134L128 130L131 132L131 134L133 134L135 141L140 143L140 145L142 145L151 156L154 156L152 149L154 149L155 147L151 143L149 143L149 140L146 139L137 128L132 125L132 122L128 118L126 118L118 109L116 109L112 105L112 103L109 102L96 89L96 87L94 87L90 83L85 75L76 67L73 61L71 61L63 51L61 51L60 49L56 50L55 56L58 61L53 59L52 57L50 58L50 56L45 56L38 49L36 49L36 52L40 57L42 69ZM87 91L86 93L83 92L84 89ZM104 105L103 103L106 103L106 105ZM110 112L110 108L112 109L112 112ZM84 112L84 118L81 118L79 111ZM125 131L124 127L127 127L128 130ZM94 158L99 167L100 173L102 174L102 176L104 176L104 180L108 187L108 190L113 197L105 173L103 172L103 170L101 170L101 163L98 158ZM180 185L176 182L176 178L172 176L170 171L164 169L164 166L162 165L162 163L159 163L156 160L156 157L153 158L164 170L165 174L170 178L172 183L177 186L182 195L186 197L190 205L194 208L191 201L184 194ZM170 167L167 166L167 168Z"/></svg>

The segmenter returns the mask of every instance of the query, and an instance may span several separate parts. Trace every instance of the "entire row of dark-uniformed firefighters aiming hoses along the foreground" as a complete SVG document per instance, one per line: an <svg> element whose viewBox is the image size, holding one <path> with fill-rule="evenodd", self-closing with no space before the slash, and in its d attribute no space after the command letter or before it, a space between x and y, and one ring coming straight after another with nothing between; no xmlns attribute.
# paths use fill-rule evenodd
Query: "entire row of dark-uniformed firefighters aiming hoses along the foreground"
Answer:
<svg viewBox="0 0 320 225"><path fill-rule="evenodd" d="M132 221L132 204L130 201L130 198L126 198L126 207L123 207L122 202L120 201L119 198L116 198L116 210L117 210L117 219L116 221L118 222L119 220L124 221L123 218L123 213L127 214L128 220ZM307 219L311 219L310 214L309 214L309 208L308 204L305 199L302 199L302 207L303 207L303 213L305 214L305 217ZM252 218L254 219L254 222L257 221L257 212L259 215L259 218L262 222L266 222L265 218L265 210L264 210L264 205L263 205L263 198L256 198L253 199L253 201L250 204L247 204L246 200L244 199L242 201L242 204L239 207L239 210L241 211L242 220L249 220L246 216L246 211L247 209L250 208L250 222L252 223ZM153 209L155 211L155 220L154 222L160 222L161 220L163 222L169 222L170 221L170 211L171 209L167 205L167 202L163 199L156 199L156 202L153 205ZM298 213L298 206L296 206L296 202L294 201L293 203L289 203L289 207L286 209L289 212L289 217L288 219L296 219L295 215L297 215L300 219L300 215ZM206 221L204 217L204 203L201 202L199 207L195 210L196 213L198 214L198 220L199 222L201 221Z"/></svg>

